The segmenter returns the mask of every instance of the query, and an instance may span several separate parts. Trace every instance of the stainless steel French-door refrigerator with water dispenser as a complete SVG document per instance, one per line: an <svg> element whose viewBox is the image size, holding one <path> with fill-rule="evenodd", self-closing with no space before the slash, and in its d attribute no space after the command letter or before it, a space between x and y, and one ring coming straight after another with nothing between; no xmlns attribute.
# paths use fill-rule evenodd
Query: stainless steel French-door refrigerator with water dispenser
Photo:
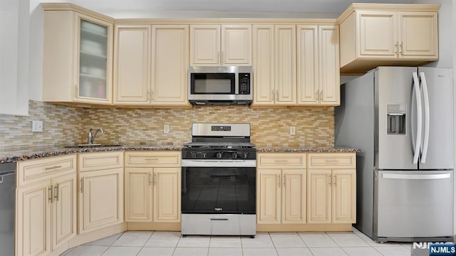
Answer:
<svg viewBox="0 0 456 256"><path fill-rule="evenodd" d="M357 156L357 220L377 241L452 241L452 70L378 67L341 85L335 144Z"/></svg>

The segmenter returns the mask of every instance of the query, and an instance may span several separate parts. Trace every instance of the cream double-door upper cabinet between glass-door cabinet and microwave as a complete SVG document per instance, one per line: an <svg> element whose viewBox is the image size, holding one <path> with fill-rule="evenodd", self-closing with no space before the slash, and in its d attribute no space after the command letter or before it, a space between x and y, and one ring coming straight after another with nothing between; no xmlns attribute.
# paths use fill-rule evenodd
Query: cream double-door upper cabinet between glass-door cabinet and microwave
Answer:
<svg viewBox="0 0 456 256"><path fill-rule="evenodd" d="M115 26L115 105L190 107L188 25Z"/></svg>

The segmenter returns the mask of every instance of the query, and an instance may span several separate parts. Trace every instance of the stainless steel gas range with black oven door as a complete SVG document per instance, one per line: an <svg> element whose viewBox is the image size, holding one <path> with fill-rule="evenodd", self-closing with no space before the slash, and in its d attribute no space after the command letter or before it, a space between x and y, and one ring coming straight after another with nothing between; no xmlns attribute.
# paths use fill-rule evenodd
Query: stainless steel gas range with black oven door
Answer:
<svg viewBox="0 0 456 256"><path fill-rule="evenodd" d="M256 235L254 146L250 124L192 124L182 149L182 235Z"/></svg>

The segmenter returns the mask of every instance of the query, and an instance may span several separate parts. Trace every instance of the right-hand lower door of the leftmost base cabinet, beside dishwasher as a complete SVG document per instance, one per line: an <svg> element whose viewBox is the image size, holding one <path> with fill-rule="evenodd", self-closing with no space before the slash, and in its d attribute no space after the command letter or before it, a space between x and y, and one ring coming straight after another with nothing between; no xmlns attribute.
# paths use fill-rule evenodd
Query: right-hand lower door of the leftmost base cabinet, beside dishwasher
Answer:
<svg viewBox="0 0 456 256"><path fill-rule="evenodd" d="M76 173L51 180L53 184L53 250L76 236Z"/></svg>

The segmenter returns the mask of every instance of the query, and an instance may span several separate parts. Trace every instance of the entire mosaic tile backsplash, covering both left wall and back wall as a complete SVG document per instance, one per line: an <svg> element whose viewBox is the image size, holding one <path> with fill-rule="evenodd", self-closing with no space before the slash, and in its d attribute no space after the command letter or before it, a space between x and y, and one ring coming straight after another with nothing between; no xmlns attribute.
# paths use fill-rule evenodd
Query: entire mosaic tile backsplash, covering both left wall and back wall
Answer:
<svg viewBox="0 0 456 256"><path fill-rule="evenodd" d="M43 132L31 132L32 120L43 121ZM98 127L105 133L97 143L180 146L191 141L193 122L248 122L258 146L333 146L333 108L83 109L30 101L28 117L0 114L0 151L83 144L88 129ZM170 124L169 134L163 133L164 124ZM291 126L296 135L289 134Z"/></svg>

